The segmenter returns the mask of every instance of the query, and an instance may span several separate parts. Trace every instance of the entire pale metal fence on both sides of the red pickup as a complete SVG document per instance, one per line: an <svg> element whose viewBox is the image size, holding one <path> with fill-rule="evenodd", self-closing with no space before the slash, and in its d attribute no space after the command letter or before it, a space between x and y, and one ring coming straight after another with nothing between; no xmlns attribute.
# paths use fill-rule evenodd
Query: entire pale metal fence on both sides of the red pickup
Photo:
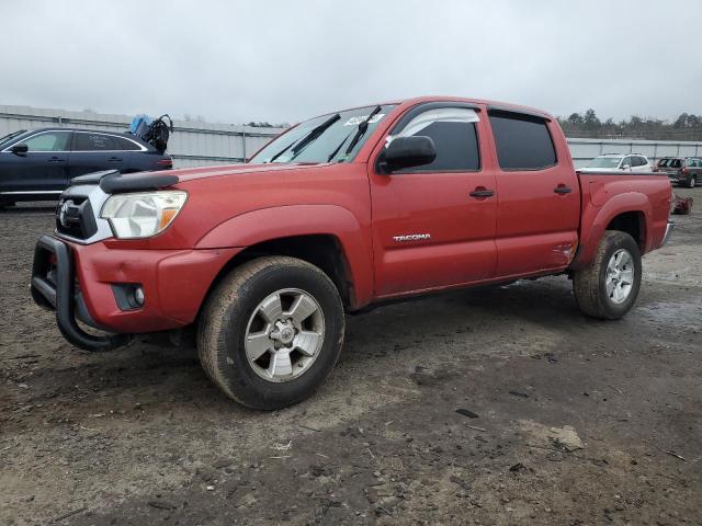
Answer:
<svg viewBox="0 0 702 526"><path fill-rule="evenodd" d="M132 123L127 115L94 112L41 110L27 106L0 106L0 137L18 129L47 126L80 127L124 132ZM283 128L263 128L202 121L174 121L168 145L177 168L244 162ZM702 142L642 139L569 138L576 167L602 153L641 153L654 162L661 157L702 156Z"/></svg>

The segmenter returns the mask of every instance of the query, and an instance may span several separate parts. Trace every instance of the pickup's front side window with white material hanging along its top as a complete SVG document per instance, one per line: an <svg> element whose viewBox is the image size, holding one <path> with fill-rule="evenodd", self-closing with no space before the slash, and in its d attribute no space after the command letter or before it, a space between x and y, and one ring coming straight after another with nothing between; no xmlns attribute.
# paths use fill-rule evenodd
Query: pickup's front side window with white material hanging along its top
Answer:
<svg viewBox="0 0 702 526"><path fill-rule="evenodd" d="M429 164L403 170L416 172L473 172L480 169L478 134L479 121L475 110L465 107L439 107L414 117L401 130L387 137L430 137L437 148L437 158Z"/></svg>

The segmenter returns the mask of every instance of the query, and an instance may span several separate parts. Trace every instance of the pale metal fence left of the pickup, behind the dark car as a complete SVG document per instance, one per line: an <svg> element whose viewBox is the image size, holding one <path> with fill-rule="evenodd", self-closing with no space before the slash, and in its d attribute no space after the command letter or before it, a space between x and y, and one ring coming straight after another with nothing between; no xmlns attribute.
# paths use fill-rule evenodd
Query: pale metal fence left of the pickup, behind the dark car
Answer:
<svg viewBox="0 0 702 526"><path fill-rule="evenodd" d="M125 132L132 118L94 112L0 106L0 137L18 129L49 126ZM244 162L283 128L264 128L202 121L173 121L168 152L177 168Z"/></svg>

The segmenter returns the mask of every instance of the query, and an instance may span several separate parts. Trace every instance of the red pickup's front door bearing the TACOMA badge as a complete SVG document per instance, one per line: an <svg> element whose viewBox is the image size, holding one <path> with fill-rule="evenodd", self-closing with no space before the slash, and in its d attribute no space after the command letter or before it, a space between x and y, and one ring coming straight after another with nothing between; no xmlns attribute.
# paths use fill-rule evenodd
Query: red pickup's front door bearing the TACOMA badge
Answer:
<svg viewBox="0 0 702 526"><path fill-rule="evenodd" d="M431 164L383 173L377 160L388 138L369 164L380 297L477 282L495 272L497 195L479 108L415 106L392 128L389 140L410 135L432 138Z"/></svg>

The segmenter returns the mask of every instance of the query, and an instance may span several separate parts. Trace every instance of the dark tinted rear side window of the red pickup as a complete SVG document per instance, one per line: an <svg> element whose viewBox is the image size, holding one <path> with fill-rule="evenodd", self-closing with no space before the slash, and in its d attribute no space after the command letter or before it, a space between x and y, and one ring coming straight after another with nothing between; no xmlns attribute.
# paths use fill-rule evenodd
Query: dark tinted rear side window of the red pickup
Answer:
<svg viewBox="0 0 702 526"><path fill-rule="evenodd" d="M556 164L556 150L543 118L507 112L489 115L502 170L542 170Z"/></svg>

